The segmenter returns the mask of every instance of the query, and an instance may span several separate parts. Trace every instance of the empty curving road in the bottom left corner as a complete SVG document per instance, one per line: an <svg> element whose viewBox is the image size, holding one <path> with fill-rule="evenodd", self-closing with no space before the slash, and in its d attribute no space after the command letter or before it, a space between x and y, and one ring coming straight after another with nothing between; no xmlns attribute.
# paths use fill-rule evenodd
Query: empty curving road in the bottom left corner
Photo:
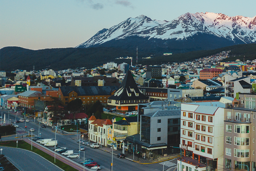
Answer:
<svg viewBox="0 0 256 171"><path fill-rule="evenodd" d="M1 149L3 149L2 154L20 171L63 171L45 158L31 151L11 147L1 147Z"/></svg>

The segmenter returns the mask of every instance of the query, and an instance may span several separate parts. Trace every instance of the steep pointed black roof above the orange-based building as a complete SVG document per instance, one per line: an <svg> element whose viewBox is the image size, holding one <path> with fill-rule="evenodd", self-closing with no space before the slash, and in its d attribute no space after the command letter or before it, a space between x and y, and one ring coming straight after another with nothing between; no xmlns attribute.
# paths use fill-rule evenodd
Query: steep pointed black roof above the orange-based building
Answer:
<svg viewBox="0 0 256 171"><path fill-rule="evenodd" d="M115 94L109 97L111 100L148 100L138 89L130 70L127 71L123 82Z"/></svg>

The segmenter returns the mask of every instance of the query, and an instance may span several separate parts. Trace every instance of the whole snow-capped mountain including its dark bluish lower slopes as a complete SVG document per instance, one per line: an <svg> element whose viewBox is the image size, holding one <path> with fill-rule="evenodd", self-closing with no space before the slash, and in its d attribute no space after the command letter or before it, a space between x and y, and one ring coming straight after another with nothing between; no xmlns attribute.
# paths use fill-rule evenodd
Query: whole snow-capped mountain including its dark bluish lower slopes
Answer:
<svg viewBox="0 0 256 171"><path fill-rule="evenodd" d="M129 48L133 45L143 45L145 48L157 47L172 51L180 45L185 45L186 47L182 48L191 51L244 43L256 43L256 16L229 17L220 13L206 12L186 13L170 22L151 20L144 15L128 18L110 29L98 31L88 41L77 47ZM209 47L206 47L207 45Z"/></svg>

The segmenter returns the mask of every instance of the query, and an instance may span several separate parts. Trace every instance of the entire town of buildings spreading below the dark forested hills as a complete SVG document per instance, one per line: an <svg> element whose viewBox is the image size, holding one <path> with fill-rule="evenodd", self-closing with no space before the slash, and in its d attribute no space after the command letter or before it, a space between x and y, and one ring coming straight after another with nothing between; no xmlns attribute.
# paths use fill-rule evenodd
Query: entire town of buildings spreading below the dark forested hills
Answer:
<svg viewBox="0 0 256 171"><path fill-rule="evenodd" d="M95 68L0 71L0 108L8 111L1 126L19 129L18 119L7 119L11 113L55 137L74 134L82 145L81 138L132 161L180 155L177 171L256 171L256 59L221 62L229 53L161 66L131 59Z"/></svg>

